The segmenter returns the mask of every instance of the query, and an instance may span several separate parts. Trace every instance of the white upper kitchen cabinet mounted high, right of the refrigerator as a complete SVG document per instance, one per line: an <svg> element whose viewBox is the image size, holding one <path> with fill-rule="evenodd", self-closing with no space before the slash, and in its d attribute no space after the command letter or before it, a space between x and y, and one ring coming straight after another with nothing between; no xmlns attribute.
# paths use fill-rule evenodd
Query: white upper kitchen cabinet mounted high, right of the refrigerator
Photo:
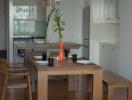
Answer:
<svg viewBox="0 0 132 100"><path fill-rule="evenodd" d="M93 0L93 22L118 23L118 0Z"/></svg>

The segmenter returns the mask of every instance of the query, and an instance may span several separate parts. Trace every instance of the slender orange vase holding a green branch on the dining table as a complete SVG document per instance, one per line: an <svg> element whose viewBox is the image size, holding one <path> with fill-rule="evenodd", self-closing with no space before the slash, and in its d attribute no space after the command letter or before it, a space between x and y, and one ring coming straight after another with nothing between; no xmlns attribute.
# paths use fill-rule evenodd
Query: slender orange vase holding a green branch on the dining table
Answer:
<svg viewBox="0 0 132 100"><path fill-rule="evenodd" d="M64 61L64 42L60 42L59 44L59 54L58 54L58 62L61 64Z"/></svg>

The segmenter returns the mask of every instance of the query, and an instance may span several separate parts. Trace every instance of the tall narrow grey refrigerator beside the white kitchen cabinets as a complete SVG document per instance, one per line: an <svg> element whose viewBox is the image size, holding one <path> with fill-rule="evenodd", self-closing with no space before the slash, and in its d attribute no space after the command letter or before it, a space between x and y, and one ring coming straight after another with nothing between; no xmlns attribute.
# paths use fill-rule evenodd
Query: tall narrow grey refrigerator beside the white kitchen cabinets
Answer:
<svg viewBox="0 0 132 100"><path fill-rule="evenodd" d="M90 41L90 6L83 8L83 34L82 34L82 56L89 59L89 41Z"/></svg>

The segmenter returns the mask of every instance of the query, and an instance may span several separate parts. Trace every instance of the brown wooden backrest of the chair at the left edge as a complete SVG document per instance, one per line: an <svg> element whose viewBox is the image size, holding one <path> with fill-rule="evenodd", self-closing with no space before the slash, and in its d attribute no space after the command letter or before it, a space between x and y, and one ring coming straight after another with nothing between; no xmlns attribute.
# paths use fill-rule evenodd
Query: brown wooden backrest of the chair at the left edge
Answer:
<svg viewBox="0 0 132 100"><path fill-rule="evenodd" d="M8 65L5 59L0 58L0 100L3 100L2 95L5 94L5 88L8 80Z"/></svg>

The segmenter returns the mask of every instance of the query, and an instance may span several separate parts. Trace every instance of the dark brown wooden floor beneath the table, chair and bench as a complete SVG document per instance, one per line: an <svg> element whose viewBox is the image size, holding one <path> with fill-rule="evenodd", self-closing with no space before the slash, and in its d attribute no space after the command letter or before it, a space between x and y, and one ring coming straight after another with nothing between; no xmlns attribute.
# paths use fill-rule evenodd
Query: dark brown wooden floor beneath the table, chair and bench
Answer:
<svg viewBox="0 0 132 100"><path fill-rule="evenodd" d="M124 90L117 90L117 92L115 100L126 100ZM26 91L23 89L10 89L6 95L6 100L27 100ZM87 91L68 91L67 80L50 80L48 98L49 100L91 100L91 93ZM33 100L37 100L36 93L33 93Z"/></svg>

